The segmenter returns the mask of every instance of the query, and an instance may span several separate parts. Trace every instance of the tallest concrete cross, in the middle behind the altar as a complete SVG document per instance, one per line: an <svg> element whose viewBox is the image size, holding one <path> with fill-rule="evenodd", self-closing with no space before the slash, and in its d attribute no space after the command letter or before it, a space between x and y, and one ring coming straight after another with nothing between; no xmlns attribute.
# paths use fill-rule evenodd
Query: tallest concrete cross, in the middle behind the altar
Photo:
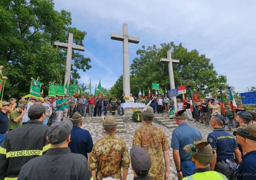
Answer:
<svg viewBox="0 0 256 180"><path fill-rule="evenodd" d="M126 96L130 95L130 73L129 73L129 46L128 43L136 43L139 38L128 36L128 25L123 24L123 34L111 33L111 39L123 41L123 92Z"/></svg>

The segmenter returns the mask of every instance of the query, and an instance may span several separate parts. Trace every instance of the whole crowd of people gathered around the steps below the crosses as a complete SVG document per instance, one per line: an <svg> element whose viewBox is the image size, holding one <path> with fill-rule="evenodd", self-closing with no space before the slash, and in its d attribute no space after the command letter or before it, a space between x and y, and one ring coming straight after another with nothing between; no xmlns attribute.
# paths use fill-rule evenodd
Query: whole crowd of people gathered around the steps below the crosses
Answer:
<svg viewBox="0 0 256 180"><path fill-rule="evenodd" d="M167 180L171 171L170 148L180 180L255 179L256 106L254 111L246 111L238 101L233 112L230 104L226 104L226 120L217 98L208 102L202 99L196 104L200 117L206 126L213 128L207 138L203 138L201 132L187 122L193 119L189 98L185 106L178 99L175 110L172 99L167 96L152 95L150 99L143 97L138 101L131 94L134 99L131 102L152 101L140 113L142 126L133 134L129 153L125 141L115 136L118 122L113 116L104 119L105 136L96 142L88 130L81 128L87 112L91 117L107 114L107 110L115 115L118 106L120 108L118 102L121 104L124 96L120 99L112 96L109 100L100 94L91 94L89 99L84 95L80 99L66 95L30 96L28 101L22 98L18 103L14 98L2 101L0 180L125 180L130 165L135 180ZM155 113L163 110L178 124L170 144L165 132L152 124ZM121 108L118 113L122 114ZM233 135L225 130L226 121L232 123ZM228 128L231 129L230 124Z"/></svg>

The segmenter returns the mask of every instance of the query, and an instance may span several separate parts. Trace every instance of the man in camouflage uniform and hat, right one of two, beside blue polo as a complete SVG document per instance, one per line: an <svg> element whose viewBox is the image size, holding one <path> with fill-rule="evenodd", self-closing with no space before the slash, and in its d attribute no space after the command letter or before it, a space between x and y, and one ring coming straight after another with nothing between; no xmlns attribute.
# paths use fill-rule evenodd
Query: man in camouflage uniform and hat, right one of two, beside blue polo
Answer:
<svg viewBox="0 0 256 180"><path fill-rule="evenodd" d="M154 127L154 110L151 106L146 106L141 112L143 126L135 130L133 136L133 146L140 145L146 150L152 161L149 176L154 180L167 180L170 173L170 145L162 129ZM163 164L165 159L165 168Z"/></svg>

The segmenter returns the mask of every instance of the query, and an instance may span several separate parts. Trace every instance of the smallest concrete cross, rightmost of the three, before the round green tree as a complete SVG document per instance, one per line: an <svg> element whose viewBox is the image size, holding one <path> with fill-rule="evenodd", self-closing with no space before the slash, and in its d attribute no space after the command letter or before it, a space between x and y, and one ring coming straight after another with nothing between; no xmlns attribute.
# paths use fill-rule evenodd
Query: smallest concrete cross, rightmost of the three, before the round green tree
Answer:
<svg viewBox="0 0 256 180"><path fill-rule="evenodd" d="M175 83L174 83L174 75L173 75L173 68L172 63L179 63L180 60L172 59L172 53L171 51L167 51L167 58L161 58L160 61L166 61L168 62L168 70L169 70L169 80L170 80L170 88L175 89ZM177 100L176 96L173 97L175 111L177 110Z"/></svg>

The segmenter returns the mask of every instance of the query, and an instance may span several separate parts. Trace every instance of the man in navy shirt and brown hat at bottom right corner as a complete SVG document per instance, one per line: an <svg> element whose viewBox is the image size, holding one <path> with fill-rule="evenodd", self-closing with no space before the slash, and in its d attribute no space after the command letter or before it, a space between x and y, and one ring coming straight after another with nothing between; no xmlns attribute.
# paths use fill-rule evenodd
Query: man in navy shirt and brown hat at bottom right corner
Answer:
<svg viewBox="0 0 256 180"><path fill-rule="evenodd" d="M238 180L255 180L256 177L256 125L248 124L234 129L234 135L246 155L238 165L235 175Z"/></svg>

